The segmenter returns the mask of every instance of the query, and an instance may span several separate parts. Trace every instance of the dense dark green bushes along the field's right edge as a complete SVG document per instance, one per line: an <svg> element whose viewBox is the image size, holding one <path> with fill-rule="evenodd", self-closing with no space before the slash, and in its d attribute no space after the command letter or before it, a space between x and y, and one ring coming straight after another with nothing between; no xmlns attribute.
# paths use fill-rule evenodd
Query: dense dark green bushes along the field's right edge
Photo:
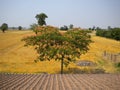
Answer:
<svg viewBox="0 0 120 90"><path fill-rule="evenodd" d="M120 40L120 28L110 28L110 30L97 30L96 35Z"/></svg>

